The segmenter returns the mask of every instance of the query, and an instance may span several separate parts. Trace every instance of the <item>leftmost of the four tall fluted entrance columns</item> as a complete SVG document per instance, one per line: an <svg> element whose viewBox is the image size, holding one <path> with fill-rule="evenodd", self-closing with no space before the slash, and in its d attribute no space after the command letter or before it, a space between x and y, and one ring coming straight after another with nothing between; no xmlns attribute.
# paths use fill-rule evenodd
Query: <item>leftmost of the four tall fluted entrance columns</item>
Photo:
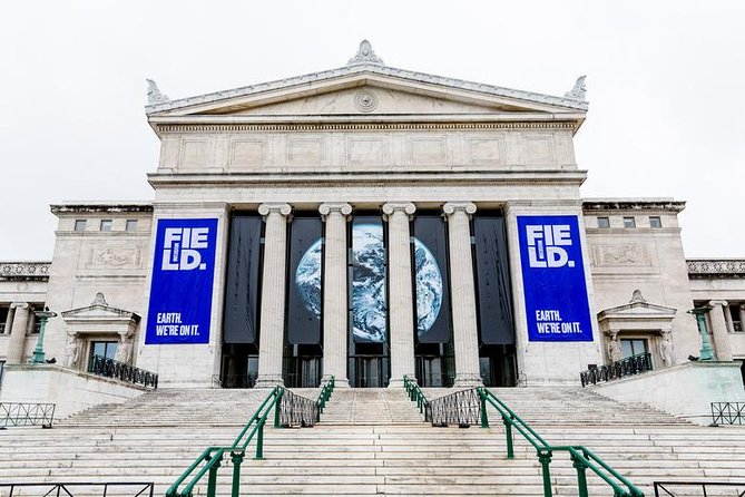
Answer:
<svg viewBox="0 0 745 497"><path fill-rule="evenodd" d="M264 216L264 271L262 279L262 316L259 322L257 388L284 384L282 355L285 324L285 265L287 254L288 204L262 204Z"/></svg>

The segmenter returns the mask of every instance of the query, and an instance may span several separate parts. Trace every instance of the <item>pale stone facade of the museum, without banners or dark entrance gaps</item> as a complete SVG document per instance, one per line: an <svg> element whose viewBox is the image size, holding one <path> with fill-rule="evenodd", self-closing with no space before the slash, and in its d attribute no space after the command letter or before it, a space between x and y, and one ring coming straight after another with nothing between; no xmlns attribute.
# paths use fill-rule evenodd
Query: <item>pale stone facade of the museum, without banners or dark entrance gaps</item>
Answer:
<svg viewBox="0 0 745 497"><path fill-rule="evenodd" d="M412 220L427 213L447 225L451 379L480 384L486 349L472 220L498 213L509 248L511 383L576 382L588 364L616 359L619 340L643 341L659 366L685 362L699 347L686 311L709 301L721 359L745 359L745 333L737 334L744 280L699 277L699 266L686 263L677 220L684 203L581 198L587 172L574 152L588 108L581 81L567 97L551 97L390 68L364 53L340 69L182 100L158 91L146 107L161 143L157 169L148 175L154 201L53 205L59 226L48 274L0 264L0 304L12 303L0 318L30 330L31 308L63 313L49 322L46 348L67 367L85 369L92 343L112 341L119 359L157 371L161 384L214 384L227 354L228 226L234 213L249 213L264 220L265 247L256 384L282 383L288 226L296 216L315 215L325 233L323 373L346 384L350 221L376 213L388 244L386 358L396 386L420 372L411 230ZM518 216L528 215L578 220L591 341L528 340L517 228ZM156 226L171 218L218 222L207 343L145 341ZM644 303L631 298L635 291ZM725 312L733 304L741 305L738 313ZM31 348L21 331L0 334L0 359L23 361Z"/></svg>

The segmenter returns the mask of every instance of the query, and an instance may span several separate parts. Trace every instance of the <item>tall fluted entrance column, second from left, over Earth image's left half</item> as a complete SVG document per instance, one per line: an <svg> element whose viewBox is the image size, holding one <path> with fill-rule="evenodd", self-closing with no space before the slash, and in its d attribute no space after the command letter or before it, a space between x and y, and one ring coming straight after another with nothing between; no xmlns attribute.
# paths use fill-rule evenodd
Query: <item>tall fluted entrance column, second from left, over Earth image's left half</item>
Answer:
<svg viewBox="0 0 745 497"><path fill-rule="evenodd" d="M336 387L349 387L346 378L346 216L350 204L321 204L326 223L323 259L323 376L334 377Z"/></svg>

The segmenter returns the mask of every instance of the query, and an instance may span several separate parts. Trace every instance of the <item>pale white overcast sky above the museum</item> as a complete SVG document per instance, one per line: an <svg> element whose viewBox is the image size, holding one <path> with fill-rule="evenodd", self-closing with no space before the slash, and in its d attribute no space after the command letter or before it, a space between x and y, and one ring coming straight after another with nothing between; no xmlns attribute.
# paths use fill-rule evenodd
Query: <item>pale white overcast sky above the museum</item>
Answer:
<svg viewBox="0 0 745 497"><path fill-rule="evenodd" d="M66 199L149 199L145 78L171 99L344 66L563 95L585 197L675 197L686 255L745 257L745 2L33 1L0 18L0 261L51 260Z"/></svg>

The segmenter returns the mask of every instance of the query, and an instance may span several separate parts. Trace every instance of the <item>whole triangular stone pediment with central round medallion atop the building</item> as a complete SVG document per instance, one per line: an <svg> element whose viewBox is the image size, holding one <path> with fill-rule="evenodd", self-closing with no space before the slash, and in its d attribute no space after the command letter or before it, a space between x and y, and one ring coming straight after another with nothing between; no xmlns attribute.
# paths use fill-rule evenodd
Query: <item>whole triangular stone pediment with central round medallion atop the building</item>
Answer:
<svg viewBox="0 0 745 497"><path fill-rule="evenodd" d="M158 91L158 95L159 91ZM581 124L587 103L381 66L351 65L146 107L157 123L241 123L262 117L453 116Z"/></svg>

